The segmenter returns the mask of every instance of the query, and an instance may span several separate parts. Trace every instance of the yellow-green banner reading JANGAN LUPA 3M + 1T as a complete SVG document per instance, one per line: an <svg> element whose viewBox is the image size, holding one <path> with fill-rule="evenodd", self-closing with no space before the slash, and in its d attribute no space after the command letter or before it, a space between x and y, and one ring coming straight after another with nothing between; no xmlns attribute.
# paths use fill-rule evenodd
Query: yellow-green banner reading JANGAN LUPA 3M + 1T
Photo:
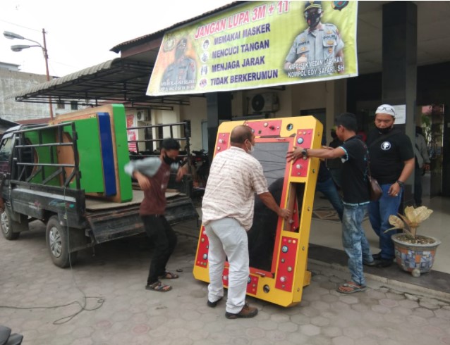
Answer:
<svg viewBox="0 0 450 345"><path fill-rule="evenodd" d="M147 95L358 75L357 1L249 1L166 32Z"/></svg>

